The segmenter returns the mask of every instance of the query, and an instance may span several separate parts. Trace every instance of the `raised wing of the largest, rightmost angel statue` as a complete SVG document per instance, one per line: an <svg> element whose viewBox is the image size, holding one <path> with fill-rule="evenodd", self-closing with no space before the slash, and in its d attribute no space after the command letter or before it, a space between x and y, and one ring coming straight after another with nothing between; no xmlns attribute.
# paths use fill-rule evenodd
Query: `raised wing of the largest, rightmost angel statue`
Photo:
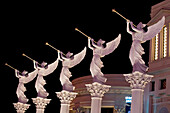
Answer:
<svg viewBox="0 0 170 113"><path fill-rule="evenodd" d="M161 31L164 24L165 24L165 16L163 16L162 19L159 20L156 24L148 27L148 31L143 35L143 41L147 41L155 37L155 35Z"/></svg>

